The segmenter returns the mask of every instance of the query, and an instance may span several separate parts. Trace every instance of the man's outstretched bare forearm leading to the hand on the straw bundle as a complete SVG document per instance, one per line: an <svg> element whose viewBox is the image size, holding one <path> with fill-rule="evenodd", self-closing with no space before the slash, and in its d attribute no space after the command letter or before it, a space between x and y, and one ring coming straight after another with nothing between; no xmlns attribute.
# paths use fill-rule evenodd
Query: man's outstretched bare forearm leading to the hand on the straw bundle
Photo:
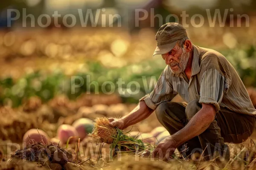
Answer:
<svg viewBox="0 0 256 170"><path fill-rule="evenodd" d="M154 110L148 108L146 103L142 100L139 105L134 108L131 113L126 116L123 116L121 119L125 122L125 128L131 125L134 125L144 119L146 119Z"/></svg>

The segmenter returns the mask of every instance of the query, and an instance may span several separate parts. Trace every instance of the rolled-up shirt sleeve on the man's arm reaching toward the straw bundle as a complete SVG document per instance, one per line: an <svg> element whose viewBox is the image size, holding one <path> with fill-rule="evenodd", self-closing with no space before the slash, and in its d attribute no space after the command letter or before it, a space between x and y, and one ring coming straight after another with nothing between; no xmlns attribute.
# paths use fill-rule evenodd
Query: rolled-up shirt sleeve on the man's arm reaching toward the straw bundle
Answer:
<svg viewBox="0 0 256 170"><path fill-rule="evenodd" d="M144 100L146 105L153 110L155 110L160 103L171 101L176 94L173 94L173 88L168 79L170 79L170 77L166 67L157 80L154 90L150 94L143 96L140 101Z"/></svg>

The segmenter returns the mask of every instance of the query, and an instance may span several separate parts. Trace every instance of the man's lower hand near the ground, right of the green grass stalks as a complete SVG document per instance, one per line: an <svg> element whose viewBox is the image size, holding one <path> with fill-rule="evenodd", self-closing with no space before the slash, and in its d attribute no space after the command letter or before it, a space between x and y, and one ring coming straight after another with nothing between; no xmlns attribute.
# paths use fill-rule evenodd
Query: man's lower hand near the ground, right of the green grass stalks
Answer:
<svg viewBox="0 0 256 170"><path fill-rule="evenodd" d="M154 158L163 159L163 161L167 161L171 158L172 153L174 153L176 147L176 142L172 139L172 137L168 137L160 142L157 147L154 149L152 156Z"/></svg>

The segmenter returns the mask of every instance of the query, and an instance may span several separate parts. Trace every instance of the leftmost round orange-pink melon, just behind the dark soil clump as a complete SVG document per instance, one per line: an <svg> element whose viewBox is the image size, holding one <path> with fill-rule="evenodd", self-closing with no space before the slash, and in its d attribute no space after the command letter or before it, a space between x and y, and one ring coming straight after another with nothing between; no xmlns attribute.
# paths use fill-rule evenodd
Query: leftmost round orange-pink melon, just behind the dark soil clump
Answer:
<svg viewBox="0 0 256 170"><path fill-rule="evenodd" d="M33 139L35 142L44 142L44 144L49 142L49 136L41 129L28 130L23 136L23 142L27 143L29 139Z"/></svg>

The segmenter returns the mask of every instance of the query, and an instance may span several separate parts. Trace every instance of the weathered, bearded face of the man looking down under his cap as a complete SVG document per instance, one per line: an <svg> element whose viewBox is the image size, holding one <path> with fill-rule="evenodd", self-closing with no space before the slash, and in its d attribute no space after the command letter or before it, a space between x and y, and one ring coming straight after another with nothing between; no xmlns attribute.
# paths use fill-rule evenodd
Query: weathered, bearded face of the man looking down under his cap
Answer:
<svg viewBox="0 0 256 170"><path fill-rule="evenodd" d="M171 51L162 54L162 57L166 61L166 65L170 66L172 72L178 74L185 70L189 60L189 52L186 52L185 47L181 48L176 44Z"/></svg>

